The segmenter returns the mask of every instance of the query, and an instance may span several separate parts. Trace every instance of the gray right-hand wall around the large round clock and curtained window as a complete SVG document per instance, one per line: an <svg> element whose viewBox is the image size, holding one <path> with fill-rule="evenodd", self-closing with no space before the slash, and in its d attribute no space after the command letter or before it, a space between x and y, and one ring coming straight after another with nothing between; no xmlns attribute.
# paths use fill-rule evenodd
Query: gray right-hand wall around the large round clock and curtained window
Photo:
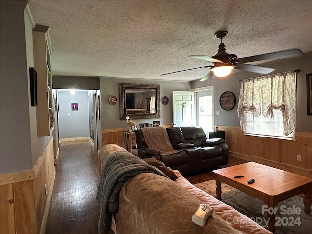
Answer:
<svg viewBox="0 0 312 234"><path fill-rule="evenodd" d="M285 48L287 49L287 48ZM307 115L307 84L306 74L312 73L312 52L299 57L280 59L273 62L262 64L263 66L273 67L276 70L273 73L292 71L300 69L297 73L297 121L296 131L312 132L312 116ZM199 88L214 85L214 110L220 110L221 115L215 115L215 125L240 126L237 115L237 103L239 98L240 83L239 80L246 78L260 77L261 75L251 72L234 71L229 77L223 80L211 78L207 81L195 81L191 83L191 88ZM225 111L220 107L219 98L225 91L232 91L236 96L236 105L234 109Z"/></svg>

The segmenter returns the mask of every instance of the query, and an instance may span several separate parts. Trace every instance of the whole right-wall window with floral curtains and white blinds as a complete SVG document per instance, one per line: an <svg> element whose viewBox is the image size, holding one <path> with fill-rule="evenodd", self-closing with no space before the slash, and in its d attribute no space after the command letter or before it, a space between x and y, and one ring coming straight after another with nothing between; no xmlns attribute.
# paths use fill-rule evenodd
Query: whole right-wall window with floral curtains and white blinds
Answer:
<svg viewBox="0 0 312 234"><path fill-rule="evenodd" d="M294 139L296 73L243 80L237 112L245 134Z"/></svg>

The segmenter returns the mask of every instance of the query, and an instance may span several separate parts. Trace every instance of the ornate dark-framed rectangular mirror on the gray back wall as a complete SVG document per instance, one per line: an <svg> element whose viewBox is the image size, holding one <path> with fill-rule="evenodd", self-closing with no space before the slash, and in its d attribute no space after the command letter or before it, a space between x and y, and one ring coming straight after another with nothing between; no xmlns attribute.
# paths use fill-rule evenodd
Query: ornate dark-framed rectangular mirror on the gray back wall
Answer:
<svg viewBox="0 0 312 234"><path fill-rule="evenodd" d="M120 120L160 118L159 84L119 83Z"/></svg>

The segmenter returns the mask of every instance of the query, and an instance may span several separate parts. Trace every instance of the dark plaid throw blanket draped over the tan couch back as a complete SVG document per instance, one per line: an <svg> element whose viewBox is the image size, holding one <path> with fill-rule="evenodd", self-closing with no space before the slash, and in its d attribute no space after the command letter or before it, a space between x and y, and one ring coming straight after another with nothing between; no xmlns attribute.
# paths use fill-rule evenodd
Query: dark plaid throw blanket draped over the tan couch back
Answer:
<svg viewBox="0 0 312 234"><path fill-rule="evenodd" d="M129 178L140 173L155 173L165 176L156 167L150 166L128 151L117 151L107 156L97 193L101 209L98 222L99 234L108 234L111 230L112 217L110 213L118 211L119 192L122 185Z"/></svg>

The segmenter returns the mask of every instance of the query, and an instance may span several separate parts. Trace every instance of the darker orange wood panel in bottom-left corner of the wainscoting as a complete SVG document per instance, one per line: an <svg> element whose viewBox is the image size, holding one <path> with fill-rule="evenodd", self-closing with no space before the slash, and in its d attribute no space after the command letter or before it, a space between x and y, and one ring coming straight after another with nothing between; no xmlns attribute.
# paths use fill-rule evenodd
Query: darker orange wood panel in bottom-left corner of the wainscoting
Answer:
<svg viewBox="0 0 312 234"><path fill-rule="evenodd" d="M15 234L14 196L12 184L4 184L0 186L0 201L0 233Z"/></svg>

